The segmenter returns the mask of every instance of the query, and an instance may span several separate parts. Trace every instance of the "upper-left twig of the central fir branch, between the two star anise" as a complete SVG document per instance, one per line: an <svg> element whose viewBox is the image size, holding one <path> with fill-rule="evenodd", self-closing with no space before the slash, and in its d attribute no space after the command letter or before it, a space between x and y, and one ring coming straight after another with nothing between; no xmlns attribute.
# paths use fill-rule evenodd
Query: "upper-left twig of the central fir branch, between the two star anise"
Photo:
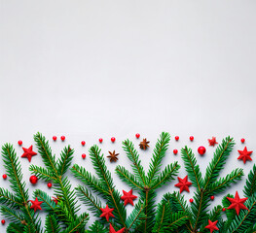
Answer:
<svg viewBox="0 0 256 233"><path fill-rule="evenodd" d="M123 149L126 151L128 155L128 159L131 161L132 170L138 179L139 183L143 183L146 186L146 175L141 165L141 161L139 159L139 155L137 150L134 149L134 145L129 140L123 142Z"/></svg>

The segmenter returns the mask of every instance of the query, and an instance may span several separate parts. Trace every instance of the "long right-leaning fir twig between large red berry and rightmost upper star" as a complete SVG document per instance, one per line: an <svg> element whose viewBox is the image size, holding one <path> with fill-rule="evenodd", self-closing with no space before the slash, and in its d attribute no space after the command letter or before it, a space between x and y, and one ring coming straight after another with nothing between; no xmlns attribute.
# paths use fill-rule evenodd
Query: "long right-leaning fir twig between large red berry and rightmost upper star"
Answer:
<svg viewBox="0 0 256 233"><path fill-rule="evenodd" d="M206 168L203 188L206 189L209 183L217 181L220 171L223 169L227 158L235 146L235 141L230 136L222 140L222 143L215 150L213 158Z"/></svg>

